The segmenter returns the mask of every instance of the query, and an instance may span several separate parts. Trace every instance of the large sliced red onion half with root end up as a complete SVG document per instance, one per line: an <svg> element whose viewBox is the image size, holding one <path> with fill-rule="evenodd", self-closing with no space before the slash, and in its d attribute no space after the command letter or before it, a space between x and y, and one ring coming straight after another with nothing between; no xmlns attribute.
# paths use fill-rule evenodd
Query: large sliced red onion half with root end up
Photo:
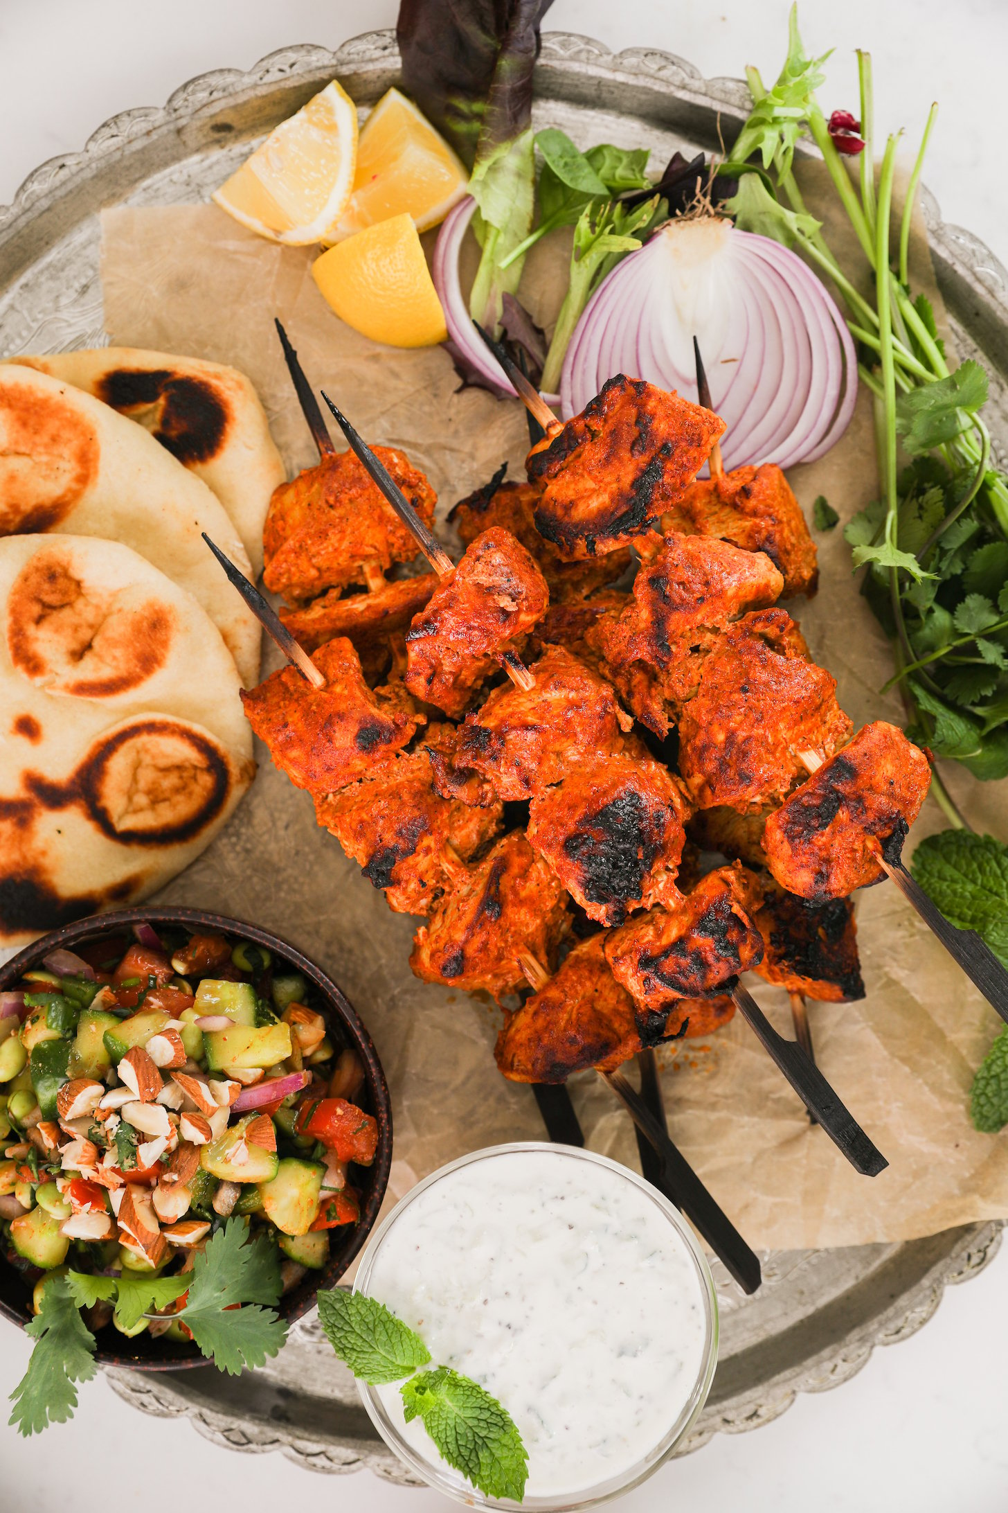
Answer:
<svg viewBox="0 0 1008 1513"><path fill-rule="evenodd" d="M564 418L620 372L695 393L694 336L727 468L812 461L846 430L857 357L827 289L787 247L713 218L669 221L595 290L564 360Z"/></svg>

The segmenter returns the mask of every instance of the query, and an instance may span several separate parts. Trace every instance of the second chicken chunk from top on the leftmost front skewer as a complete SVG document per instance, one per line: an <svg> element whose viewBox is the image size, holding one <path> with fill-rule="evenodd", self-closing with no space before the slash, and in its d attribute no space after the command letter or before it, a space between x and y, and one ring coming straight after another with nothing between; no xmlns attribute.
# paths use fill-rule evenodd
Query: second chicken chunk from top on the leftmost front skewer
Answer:
<svg viewBox="0 0 1008 1513"><path fill-rule="evenodd" d="M426 750L399 752L314 811L396 914L429 914L464 862L503 829L503 805L475 809L434 791Z"/></svg>

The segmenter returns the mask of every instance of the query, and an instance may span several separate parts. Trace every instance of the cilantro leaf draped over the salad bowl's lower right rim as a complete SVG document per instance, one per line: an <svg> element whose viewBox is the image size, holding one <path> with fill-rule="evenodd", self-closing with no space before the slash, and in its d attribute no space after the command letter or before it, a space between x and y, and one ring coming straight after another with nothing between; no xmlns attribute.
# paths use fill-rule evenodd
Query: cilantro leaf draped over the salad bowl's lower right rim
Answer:
<svg viewBox="0 0 1008 1513"><path fill-rule="evenodd" d="M237 1377L275 1356L287 1337L287 1325L275 1313L280 1289L275 1247L264 1235L249 1239L242 1219L233 1218L196 1256L180 1318L218 1371ZM260 1303L267 1306L249 1306Z"/></svg>

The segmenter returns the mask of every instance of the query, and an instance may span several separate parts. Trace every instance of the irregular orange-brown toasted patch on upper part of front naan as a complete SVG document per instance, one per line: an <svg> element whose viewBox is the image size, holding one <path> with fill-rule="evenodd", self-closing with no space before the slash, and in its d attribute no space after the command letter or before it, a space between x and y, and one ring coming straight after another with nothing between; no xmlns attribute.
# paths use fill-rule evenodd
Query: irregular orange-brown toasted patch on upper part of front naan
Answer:
<svg viewBox="0 0 1008 1513"><path fill-rule="evenodd" d="M124 604L115 592L83 583L65 549L36 552L8 596L11 663L50 693L128 693L163 667L174 632L169 604Z"/></svg>

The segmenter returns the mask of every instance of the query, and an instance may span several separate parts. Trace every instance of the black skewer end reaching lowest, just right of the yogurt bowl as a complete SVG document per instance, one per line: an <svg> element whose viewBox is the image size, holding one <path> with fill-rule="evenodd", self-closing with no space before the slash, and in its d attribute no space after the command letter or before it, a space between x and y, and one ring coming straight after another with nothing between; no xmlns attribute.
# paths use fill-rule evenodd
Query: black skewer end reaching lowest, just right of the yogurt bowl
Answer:
<svg viewBox="0 0 1008 1513"><path fill-rule="evenodd" d="M518 965L538 993L550 980L541 961L532 952L518 952ZM597 1070L597 1068L595 1068ZM635 1126L654 1148L660 1171L657 1180L648 1177L663 1192L669 1203L686 1215L744 1292L756 1292L762 1278L759 1256L745 1244L731 1219L724 1213L682 1151L673 1144L668 1130L659 1124L642 1098L618 1071L598 1071L598 1076L623 1103ZM647 1176L647 1173L645 1173Z"/></svg>

